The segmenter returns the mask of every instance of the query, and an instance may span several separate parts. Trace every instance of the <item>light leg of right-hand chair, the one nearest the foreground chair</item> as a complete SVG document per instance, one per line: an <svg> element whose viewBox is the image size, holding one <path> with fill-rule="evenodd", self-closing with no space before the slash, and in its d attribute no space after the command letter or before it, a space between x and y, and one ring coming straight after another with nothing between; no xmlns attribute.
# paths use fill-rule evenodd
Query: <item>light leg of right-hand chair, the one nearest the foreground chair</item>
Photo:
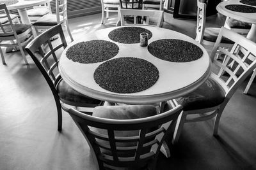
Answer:
<svg viewBox="0 0 256 170"><path fill-rule="evenodd" d="M187 114L184 111L182 111L182 113L180 113L177 119L176 127L173 133L173 139L172 139L173 144L177 143L177 141L180 138L181 131L186 121L186 117L187 117Z"/></svg>

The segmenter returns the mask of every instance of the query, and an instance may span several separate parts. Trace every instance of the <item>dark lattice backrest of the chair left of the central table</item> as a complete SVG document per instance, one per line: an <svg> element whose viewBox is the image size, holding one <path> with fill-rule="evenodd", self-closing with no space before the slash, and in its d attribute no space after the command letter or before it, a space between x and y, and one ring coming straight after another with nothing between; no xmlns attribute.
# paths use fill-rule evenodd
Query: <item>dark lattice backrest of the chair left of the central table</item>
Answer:
<svg viewBox="0 0 256 170"><path fill-rule="evenodd" d="M54 45L52 45L51 38L58 34L60 35L60 43L57 44L58 41L55 41ZM42 46L45 44L47 44L49 48L44 48L43 52ZM40 69L41 73L44 75L44 78L54 95L56 94L56 85L61 80L61 76L58 70L59 59L57 55L58 53L62 52L62 50L61 52L58 51L62 47L63 49L66 48L67 42L61 25L58 24L37 36L25 48L25 50L34 60L38 69ZM39 53L36 53L37 51L40 52L42 59L40 59L41 57L38 56Z"/></svg>

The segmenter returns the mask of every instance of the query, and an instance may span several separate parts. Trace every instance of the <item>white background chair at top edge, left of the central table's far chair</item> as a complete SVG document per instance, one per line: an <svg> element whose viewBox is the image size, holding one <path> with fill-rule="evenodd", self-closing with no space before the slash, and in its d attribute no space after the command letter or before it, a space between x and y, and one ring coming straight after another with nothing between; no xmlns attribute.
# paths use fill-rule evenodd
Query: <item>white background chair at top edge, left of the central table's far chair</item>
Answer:
<svg viewBox="0 0 256 170"><path fill-rule="evenodd" d="M109 12L116 12L118 13L118 7L120 6L119 0L101 0L101 8L102 8L102 17L101 17L101 24L104 24L104 15L106 11L106 18L109 18ZM119 15L118 15L118 18Z"/></svg>

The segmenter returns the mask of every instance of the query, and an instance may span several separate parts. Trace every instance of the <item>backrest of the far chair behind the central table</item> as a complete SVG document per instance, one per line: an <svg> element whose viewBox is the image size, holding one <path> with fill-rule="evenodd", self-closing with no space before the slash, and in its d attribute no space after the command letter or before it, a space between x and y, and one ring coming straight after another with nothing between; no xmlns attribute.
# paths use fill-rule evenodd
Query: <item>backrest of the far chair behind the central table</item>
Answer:
<svg viewBox="0 0 256 170"><path fill-rule="evenodd" d="M133 16L134 18L134 23L133 24L128 24L125 22L125 17L126 16ZM163 11L156 11L156 10L127 10L127 9L120 9L120 18L121 18L121 25L137 25L136 23L136 18L141 17L141 20L146 18L146 20L143 20L144 25L151 25L149 24L150 18L156 20L156 27L160 27L161 21L163 18ZM139 24L141 25L141 24Z"/></svg>

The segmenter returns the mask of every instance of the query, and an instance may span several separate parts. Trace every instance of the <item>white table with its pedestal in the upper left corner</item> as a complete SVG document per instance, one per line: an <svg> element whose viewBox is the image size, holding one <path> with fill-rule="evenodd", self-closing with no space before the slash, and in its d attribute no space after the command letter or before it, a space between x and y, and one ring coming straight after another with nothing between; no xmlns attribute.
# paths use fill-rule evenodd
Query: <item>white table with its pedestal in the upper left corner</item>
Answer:
<svg viewBox="0 0 256 170"><path fill-rule="evenodd" d="M30 24L26 8L31 6L38 6L40 4L49 3L52 0L18 0L18 3L6 6L8 10L18 10L21 22L23 24Z"/></svg>

